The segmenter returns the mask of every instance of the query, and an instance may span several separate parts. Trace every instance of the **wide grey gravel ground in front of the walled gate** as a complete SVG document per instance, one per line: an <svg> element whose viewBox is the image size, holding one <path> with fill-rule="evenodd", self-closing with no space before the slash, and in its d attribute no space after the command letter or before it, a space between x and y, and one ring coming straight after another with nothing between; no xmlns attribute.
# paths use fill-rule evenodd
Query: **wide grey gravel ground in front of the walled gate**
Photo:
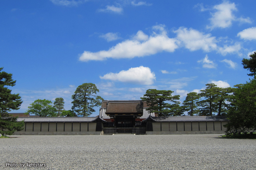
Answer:
<svg viewBox="0 0 256 170"><path fill-rule="evenodd" d="M220 135L11 137L0 139L0 169L256 169L256 140L252 139ZM18 167L6 167L6 163ZM19 167L20 163L25 166Z"/></svg>

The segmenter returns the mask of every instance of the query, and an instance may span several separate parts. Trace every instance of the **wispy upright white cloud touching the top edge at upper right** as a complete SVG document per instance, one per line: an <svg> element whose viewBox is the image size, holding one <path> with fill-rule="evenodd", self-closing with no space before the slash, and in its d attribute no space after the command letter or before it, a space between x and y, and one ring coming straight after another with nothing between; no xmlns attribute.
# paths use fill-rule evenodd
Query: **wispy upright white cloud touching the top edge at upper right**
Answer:
<svg viewBox="0 0 256 170"><path fill-rule="evenodd" d="M234 11L237 11L235 3L229 3L229 1L224 1L222 4L215 5L213 9L216 12L211 14L211 25L207 26L207 28L214 29L230 27L233 21L238 21L240 23L251 23L250 18L237 18L233 14Z"/></svg>

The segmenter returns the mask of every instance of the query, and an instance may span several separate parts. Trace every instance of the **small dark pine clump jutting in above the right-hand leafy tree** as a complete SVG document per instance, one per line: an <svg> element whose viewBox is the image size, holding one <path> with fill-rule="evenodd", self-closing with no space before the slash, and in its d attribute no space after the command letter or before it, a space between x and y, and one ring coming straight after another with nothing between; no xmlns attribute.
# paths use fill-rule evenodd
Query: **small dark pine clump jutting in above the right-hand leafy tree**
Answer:
<svg viewBox="0 0 256 170"><path fill-rule="evenodd" d="M243 58L242 59L242 65L244 65L244 69L249 70L250 74L247 74L248 76L255 76L256 75L256 52L249 55L249 59Z"/></svg>

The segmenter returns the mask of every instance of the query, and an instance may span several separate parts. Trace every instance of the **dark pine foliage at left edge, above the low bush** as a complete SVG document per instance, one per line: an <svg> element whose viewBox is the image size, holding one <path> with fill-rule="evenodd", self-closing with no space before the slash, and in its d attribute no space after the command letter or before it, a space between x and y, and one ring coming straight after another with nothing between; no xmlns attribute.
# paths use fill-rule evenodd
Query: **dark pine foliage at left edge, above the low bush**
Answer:
<svg viewBox="0 0 256 170"><path fill-rule="evenodd" d="M11 94L10 89L6 86L15 86L16 80L12 80L12 74L1 72L0 68L0 117L8 116L8 112L18 110L22 104L19 94Z"/></svg>

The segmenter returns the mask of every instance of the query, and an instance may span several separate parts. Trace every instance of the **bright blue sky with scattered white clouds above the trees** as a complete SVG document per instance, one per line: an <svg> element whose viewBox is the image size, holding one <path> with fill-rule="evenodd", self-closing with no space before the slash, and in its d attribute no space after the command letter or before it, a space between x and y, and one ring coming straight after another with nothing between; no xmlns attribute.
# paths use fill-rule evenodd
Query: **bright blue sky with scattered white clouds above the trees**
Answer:
<svg viewBox="0 0 256 170"><path fill-rule="evenodd" d="M0 1L0 67L13 74L25 112L83 83L105 100L139 100L147 89L180 101L207 83L249 80L241 65L256 47L256 2L170 0ZM98 115L99 108L91 116Z"/></svg>

